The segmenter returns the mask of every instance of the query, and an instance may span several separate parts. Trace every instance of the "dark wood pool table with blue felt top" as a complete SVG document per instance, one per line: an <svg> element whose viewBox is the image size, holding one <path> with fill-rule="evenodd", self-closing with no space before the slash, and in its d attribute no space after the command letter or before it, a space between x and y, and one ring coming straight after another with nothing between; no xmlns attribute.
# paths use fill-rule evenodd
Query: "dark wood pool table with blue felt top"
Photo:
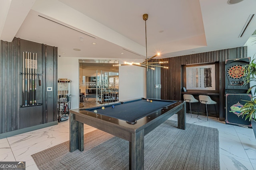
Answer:
<svg viewBox="0 0 256 170"><path fill-rule="evenodd" d="M144 135L175 113L178 113L178 128L186 129L184 101L148 102L140 98L104 107L70 110L70 152L84 150L85 123L129 141L129 169L141 170L144 169Z"/></svg>

